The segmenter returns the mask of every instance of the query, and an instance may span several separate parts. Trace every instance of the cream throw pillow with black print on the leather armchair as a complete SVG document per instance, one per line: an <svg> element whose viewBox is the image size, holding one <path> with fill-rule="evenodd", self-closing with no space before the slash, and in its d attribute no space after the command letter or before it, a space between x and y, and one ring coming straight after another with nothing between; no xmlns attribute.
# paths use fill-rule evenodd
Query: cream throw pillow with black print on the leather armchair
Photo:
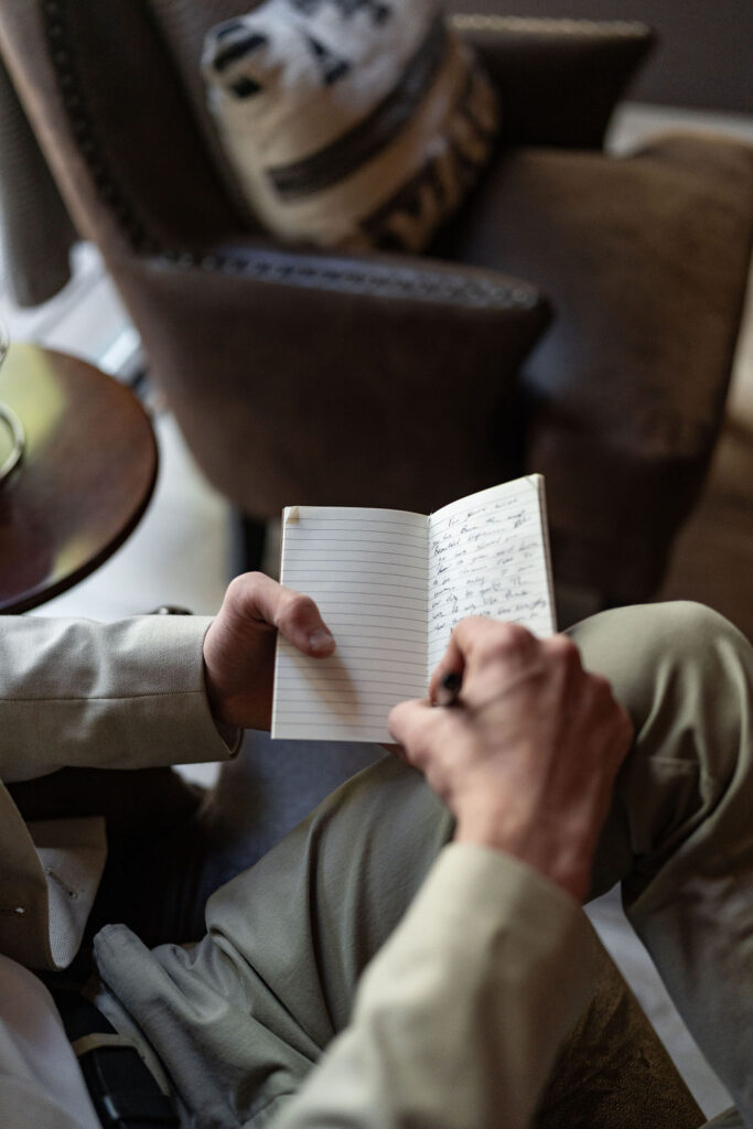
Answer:
<svg viewBox="0 0 753 1129"><path fill-rule="evenodd" d="M265 0L209 32L202 69L244 194L286 239L420 250L498 130L438 0Z"/></svg>

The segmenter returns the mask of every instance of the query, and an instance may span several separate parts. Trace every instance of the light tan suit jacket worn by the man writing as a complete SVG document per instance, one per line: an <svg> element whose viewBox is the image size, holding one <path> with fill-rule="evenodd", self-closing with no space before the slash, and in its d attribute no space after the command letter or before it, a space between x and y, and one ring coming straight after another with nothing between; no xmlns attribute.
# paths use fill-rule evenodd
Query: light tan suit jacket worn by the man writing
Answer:
<svg viewBox="0 0 753 1129"><path fill-rule="evenodd" d="M229 755L203 691L207 625L1 620L0 778ZM27 829L0 787L0 952L65 964L104 850L99 821ZM450 844L367 969L352 1022L274 1129L523 1129L588 1001L592 944L559 887L496 851ZM46 1127L54 1094L41 1094L18 1045L0 1007L0 1080L14 1079L0 1085L0 1121L23 1110L29 1129ZM59 1123L88 1123L63 1109Z"/></svg>

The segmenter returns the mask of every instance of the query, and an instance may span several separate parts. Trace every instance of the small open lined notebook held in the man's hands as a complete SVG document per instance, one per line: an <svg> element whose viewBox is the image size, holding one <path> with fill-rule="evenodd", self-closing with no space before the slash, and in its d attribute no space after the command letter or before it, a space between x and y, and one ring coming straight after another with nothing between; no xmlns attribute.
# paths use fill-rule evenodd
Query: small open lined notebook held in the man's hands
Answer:
<svg viewBox="0 0 753 1129"><path fill-rule="evenodd" d="M272 736L389 741L389 710L427 695L459 620L555 630L544 480L516 479L428 517L288 507L280 579L316 601L338 646L310 658L278 636Z"/></svg>

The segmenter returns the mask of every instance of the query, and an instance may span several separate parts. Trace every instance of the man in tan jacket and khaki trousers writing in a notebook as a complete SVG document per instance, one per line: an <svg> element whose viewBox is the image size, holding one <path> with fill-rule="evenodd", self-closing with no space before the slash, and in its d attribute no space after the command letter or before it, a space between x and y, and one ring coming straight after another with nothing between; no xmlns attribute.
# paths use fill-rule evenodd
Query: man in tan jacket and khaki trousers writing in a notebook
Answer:
<svg viewBox="0 0 753 1129"><path fill-rule="evenodd" d="M0 777L227 755L230 727L269 720L274 628L312 655L335 646L310 601L259 576L234 581L209 625L7 621ZM150 952L123 926L99 933L97 1003L115 1031L166 1073L186 1123L523 1127L589 999L578 901L622 879L738 1123L753 1126L745 640L693 605L604 613L571 640L469 620L432 693L447 672L462 675L456 706L391 715L406 763L360 774L220 889L202 942ZM70 957L80 914L65 898L86 902L96 829L67 829L77 882L61 877L60 847L41 848L58 851L44 893L59 891L67 921L50 940L3 803L3 949L33 965ZM96 1123L80 1094L42 1108L19 1022L0 1042L3 1123Z"/></svg>

